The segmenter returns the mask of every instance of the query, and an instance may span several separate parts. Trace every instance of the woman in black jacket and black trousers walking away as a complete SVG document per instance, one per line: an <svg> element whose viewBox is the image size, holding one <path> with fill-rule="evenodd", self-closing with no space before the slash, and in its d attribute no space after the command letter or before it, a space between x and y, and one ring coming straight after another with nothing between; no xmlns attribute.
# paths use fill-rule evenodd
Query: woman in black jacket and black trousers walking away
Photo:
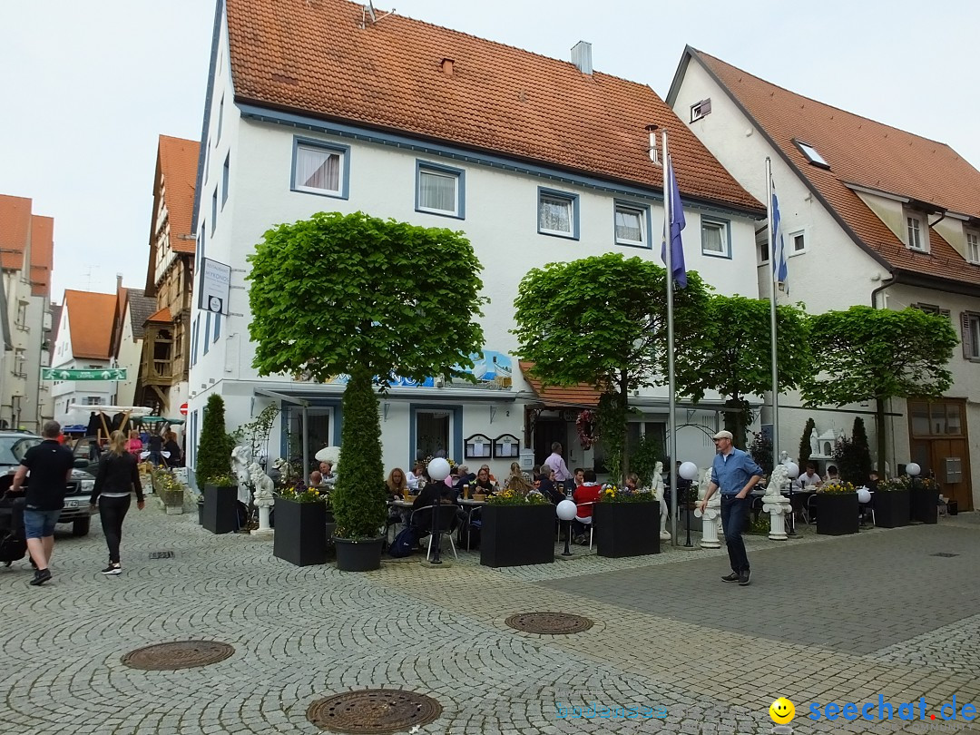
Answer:
<svg viewBox="0 0 980 735"><path fill-rule="evenodd" d="M136 458L126 452L125 445L123 432L114 431L109 451L99 462L99 473L95 477L92 497L88 501L92 513L95 513L95 504L99 505L102 532L109 546L109 566L102 570L106 575L123 572L120 564L120 541L123 539L123 518L129 510L133 490L136 491L136 508L142 511L146 505Z"/></svg>

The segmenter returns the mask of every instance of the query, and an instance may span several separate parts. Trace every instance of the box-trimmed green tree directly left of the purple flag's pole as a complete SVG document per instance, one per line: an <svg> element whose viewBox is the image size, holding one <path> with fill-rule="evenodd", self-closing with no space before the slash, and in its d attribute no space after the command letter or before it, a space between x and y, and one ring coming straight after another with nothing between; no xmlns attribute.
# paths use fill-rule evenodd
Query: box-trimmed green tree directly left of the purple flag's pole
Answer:
<svg viewBox="0 0 980 735"><path fill-rule="evenodd" d="M687 276L687 288L674 292L674 332L679 349L697 351L708 291L696 272ZM604 394L605 416L614 419L604 440L618 459L612 465L627 472L629 391L666 382L666 271L618 253L551 263L527 272L515 308L517 351L537 376Z"/></svg>

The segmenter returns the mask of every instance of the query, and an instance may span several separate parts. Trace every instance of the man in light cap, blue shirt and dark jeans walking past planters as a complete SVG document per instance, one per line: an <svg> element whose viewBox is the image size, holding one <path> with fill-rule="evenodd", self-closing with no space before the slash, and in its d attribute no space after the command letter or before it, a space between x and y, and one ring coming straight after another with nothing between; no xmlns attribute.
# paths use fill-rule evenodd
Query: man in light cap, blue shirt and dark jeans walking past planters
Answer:
<svg viewBox="0 0 980 735"><path fill-rule="evenodd" d="M735 449L731 431L719 431L714 435L717 454L711 464L711 482L705 499L701 501L701 512L705 513L708 500L714 491L721 489L721 527L725 533L728 547L728 561L732 573L721 577L725 582L738 582L745 587L749 584L752 572L749 557L742 541L742 528L749 515L752 499L749 493L762 479L762 468L747 453Z"/></svg>

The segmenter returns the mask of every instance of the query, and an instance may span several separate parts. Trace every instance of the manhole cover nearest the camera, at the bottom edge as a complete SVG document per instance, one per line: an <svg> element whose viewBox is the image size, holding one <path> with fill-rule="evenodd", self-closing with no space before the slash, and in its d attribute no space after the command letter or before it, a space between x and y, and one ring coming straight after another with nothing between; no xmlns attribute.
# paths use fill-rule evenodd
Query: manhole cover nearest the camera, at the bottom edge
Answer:
<svg viewBox="0 0 980 735"><path fill-rule="evenodd" d="M425 725L442 714L434 699L400 689L365 689L317 700L307 719L333 732L400 732Z"/></svg>

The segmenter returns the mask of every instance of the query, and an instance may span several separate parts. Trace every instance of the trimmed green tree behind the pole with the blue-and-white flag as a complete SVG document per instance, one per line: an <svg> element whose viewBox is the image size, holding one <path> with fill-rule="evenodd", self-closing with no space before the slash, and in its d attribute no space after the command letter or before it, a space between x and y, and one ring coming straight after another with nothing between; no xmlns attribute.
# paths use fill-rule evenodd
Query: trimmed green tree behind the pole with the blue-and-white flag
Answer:
<svg viewBox="0 0 980 735"><path fill-rule="evenodd" d="M769 302L712 294L699 325L707 347L678 353L677 387L697 402L713 390L725 397L725 428L746 446L750 395L772 390ZM792 390L810 372L807 319L797 307L776 308L776 366L779 390Z"/></svg>

